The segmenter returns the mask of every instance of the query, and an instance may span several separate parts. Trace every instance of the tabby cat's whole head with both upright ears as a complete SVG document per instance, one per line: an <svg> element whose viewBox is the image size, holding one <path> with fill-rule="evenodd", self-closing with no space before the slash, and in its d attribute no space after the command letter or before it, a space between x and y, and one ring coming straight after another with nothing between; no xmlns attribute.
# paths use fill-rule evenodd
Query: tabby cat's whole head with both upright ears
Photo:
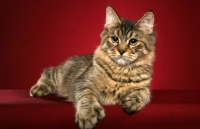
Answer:
<svg viewBox="0 0 200 129"><path fill-rule="evenodd" d="M143 60L155 49L154 14L147 12L137 21L125 20L108 6L101 38L101 49L118 65Z"/></svg>

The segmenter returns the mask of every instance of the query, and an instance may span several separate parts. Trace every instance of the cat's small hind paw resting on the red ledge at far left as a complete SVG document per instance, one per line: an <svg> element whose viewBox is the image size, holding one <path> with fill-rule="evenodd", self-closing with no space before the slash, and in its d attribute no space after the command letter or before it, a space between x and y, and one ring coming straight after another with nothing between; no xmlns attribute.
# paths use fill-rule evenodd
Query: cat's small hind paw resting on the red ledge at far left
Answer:
<svg viewBox="0 0 200 129"><path fill-rule="evenodd" d="M48 88L48 86L45 85L34 85L30 89L30 96L32 97L42 97L49 95L51 93L51 90Z"/></svg>

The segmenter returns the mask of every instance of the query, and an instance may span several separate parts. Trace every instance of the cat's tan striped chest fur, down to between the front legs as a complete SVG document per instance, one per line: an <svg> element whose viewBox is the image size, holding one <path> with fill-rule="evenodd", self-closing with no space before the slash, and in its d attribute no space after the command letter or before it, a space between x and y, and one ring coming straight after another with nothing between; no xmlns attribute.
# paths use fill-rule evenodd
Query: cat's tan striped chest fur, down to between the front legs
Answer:
<svg viewBox="0 0 200 129"><path fill-rule="evenodd" d="M150 74L143 66L122 67L101 59L96 60L94 66L92 81L98 87L103 104L121 104L128 90L140 89L150 83Z"/></svg>

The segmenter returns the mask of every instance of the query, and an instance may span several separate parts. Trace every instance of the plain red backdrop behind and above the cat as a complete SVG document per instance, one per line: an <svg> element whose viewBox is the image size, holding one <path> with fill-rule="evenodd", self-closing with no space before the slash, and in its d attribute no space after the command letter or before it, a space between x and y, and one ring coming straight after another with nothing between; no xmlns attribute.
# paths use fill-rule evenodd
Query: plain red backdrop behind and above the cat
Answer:
<svg viewBox="0 0 200 129"><path fill-rule="evenodd" d="M1 0L0 89L29 89L43 68L92 53L109 4L128 19L153 10L152 89L200 89L199 0Z"/></svg>

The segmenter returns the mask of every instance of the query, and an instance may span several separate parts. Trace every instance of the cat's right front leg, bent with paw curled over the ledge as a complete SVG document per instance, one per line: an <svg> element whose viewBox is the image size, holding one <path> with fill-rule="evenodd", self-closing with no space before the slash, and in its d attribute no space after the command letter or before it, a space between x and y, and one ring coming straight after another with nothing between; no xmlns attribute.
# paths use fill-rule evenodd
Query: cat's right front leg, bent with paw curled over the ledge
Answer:
<svg viewBox="0 0 200 129"><path fill-rule="evenodd" d="M129 89L123 95L122 100L122 107L127 113L136 113L150 101L150 90L148 87L142 89Z"/></svg>

